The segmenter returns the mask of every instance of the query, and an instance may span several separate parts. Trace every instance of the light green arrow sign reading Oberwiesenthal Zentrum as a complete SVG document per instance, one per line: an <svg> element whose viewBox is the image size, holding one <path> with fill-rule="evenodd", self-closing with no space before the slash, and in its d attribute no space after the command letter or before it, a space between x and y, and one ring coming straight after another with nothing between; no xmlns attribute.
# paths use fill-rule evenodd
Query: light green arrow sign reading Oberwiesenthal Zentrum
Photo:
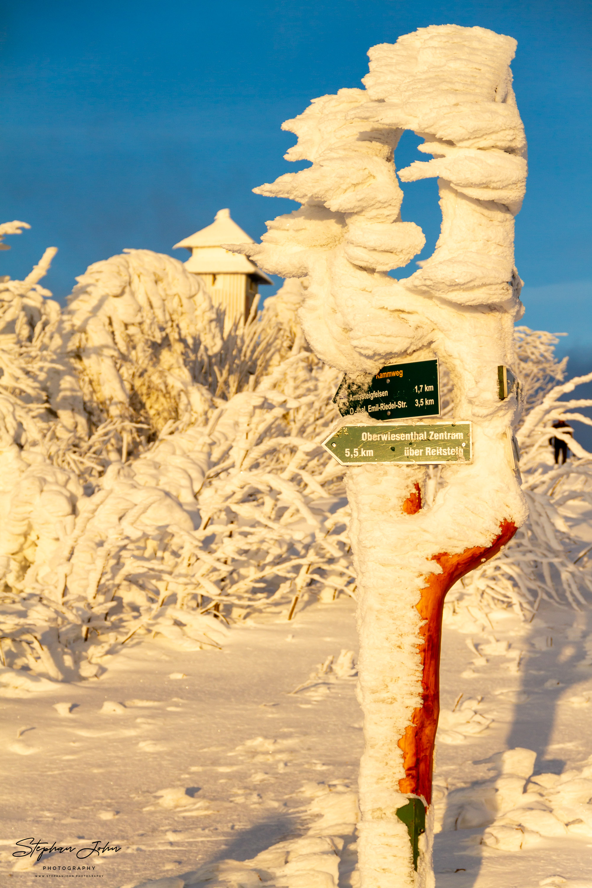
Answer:
<svg viewBox="0 0 592 888"><path fill-rule="evenodd" d="M342 465L470 463L471 424L342 425L323 447Z"/></svg>

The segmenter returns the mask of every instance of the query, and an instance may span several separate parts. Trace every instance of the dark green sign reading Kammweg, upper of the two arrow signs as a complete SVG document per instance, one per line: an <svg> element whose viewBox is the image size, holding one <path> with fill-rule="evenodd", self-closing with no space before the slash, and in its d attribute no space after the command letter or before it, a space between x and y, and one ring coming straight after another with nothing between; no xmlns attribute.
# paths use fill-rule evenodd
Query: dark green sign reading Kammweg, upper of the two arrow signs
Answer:
<svg viewBox="0 0 592 888"><path fill-rule="evenodd" d="M345 374L333 400L342 416L364 411L387 421L439 416L438 359L388 364L366 383Z"/></svg>

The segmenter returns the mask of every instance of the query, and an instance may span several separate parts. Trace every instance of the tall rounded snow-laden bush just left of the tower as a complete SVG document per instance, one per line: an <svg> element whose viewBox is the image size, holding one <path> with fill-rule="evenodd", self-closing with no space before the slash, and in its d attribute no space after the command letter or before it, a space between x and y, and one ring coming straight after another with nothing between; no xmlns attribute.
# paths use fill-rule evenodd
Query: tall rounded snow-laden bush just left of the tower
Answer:
<svg viewBox="0 0 592 888"><path fill-rule="evenodd" d="M196 370L219 353L222 337L199 278L177 259L125 250L76 280L67 349L83 366L86 400L114 419L130 419L139 401L159 431L201 414L209 392Z"/></svg>

